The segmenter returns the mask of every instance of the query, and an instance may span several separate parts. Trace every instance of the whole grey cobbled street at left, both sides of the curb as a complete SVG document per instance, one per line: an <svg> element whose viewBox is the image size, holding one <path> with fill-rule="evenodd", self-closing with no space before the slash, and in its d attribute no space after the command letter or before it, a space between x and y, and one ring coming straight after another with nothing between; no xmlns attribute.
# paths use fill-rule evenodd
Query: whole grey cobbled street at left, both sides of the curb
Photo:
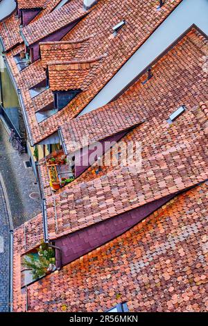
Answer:
<svg viewBox="0 0 208 326"><path fill-rule="evenodd" d="M13 225L16 228L24 221L41 212L40 197L30 198L30 194L39 194L35 185L33 170L26 169L26 154L19 155L8 141L8 133L0 119L0 173L6 186ZM8 311L9 293L9 222L6 198L0 179L0 312Z"/></svg>

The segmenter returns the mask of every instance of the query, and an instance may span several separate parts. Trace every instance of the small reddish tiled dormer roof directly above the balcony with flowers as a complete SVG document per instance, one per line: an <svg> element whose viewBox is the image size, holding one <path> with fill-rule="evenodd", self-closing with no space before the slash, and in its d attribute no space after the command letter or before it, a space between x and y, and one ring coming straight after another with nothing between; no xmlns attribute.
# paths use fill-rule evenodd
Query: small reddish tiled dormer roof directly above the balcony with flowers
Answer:
<svg viewBox="0 0 208 326"><path fill-rule="evenodd" d="M112 102L82 117L71 119L69 123L64 123L61 130L67 153L73 153L144 121L139 110L135 110L135 107L127 110L121 103L122 101Z"/></svg>

